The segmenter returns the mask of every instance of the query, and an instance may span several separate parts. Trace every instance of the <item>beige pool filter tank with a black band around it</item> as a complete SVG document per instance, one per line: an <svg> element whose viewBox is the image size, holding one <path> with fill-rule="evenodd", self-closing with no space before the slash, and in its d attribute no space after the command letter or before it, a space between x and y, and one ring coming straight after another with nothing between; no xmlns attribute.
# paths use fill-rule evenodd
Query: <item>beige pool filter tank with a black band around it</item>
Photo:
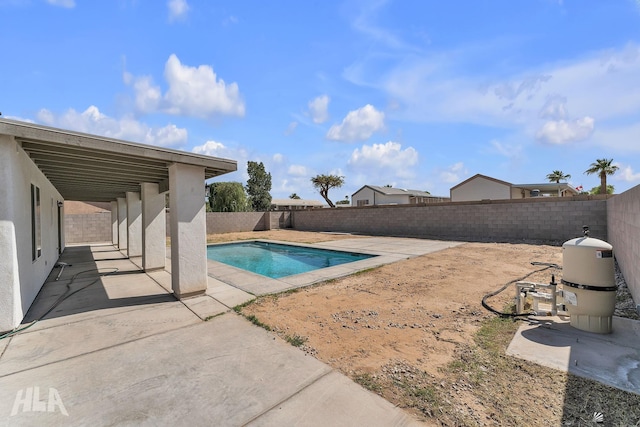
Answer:
<svg viewBox="0 0 640 427"><path fill-rule="evenodd" d="M565 306L574 328L599 334L611 333L616 306L613 246L589 237L562 245L562 284Z"/></svg>

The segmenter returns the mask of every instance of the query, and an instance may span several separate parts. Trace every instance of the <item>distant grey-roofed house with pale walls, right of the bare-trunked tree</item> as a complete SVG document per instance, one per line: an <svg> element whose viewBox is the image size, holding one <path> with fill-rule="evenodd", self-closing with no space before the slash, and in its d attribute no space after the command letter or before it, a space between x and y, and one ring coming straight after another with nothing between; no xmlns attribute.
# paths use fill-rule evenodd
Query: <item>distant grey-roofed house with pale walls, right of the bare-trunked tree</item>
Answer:
<svg viewBox="0 0 640 427"><path fill-rule="evenodd" d="M448 202L447 197L432 196L426 191L365 185L351 196L351 206L416 205Z"/></svg>

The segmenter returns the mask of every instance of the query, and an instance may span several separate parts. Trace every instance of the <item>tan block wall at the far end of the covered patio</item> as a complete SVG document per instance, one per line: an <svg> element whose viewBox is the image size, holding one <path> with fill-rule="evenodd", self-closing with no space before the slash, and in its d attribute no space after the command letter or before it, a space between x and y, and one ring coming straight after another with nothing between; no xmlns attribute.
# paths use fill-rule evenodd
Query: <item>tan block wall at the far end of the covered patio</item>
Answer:
<svg viewBox="0 0 640 427"><path fill-rule="evenodd" d="M65 215L64 237L67 244L111 242L111 212Z"/></svg>

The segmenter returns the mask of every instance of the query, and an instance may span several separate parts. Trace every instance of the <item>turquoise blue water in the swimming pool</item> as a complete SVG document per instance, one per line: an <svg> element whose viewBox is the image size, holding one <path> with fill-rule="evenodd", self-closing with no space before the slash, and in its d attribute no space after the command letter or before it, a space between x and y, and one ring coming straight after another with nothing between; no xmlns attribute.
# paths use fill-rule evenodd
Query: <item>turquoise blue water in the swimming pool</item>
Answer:
<svg viewBox="0 0 640 427"><path fill-rule="evenodd" d="M268 242L240 242L207 247L207 258L278 279L360 261L375 255L306 248Z"/></svg>

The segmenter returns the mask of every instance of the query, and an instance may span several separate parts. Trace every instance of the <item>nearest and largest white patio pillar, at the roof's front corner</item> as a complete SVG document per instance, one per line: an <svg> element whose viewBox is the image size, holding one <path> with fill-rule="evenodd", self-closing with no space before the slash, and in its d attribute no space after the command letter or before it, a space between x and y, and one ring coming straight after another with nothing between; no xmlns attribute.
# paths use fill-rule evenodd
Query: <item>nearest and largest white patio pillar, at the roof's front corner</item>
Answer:
<svg viewBox="0 0 640 427"><path fill-rule="evenodd" d="M178 298L207 290L204 167L169 166L171 286Z"/></svg>

